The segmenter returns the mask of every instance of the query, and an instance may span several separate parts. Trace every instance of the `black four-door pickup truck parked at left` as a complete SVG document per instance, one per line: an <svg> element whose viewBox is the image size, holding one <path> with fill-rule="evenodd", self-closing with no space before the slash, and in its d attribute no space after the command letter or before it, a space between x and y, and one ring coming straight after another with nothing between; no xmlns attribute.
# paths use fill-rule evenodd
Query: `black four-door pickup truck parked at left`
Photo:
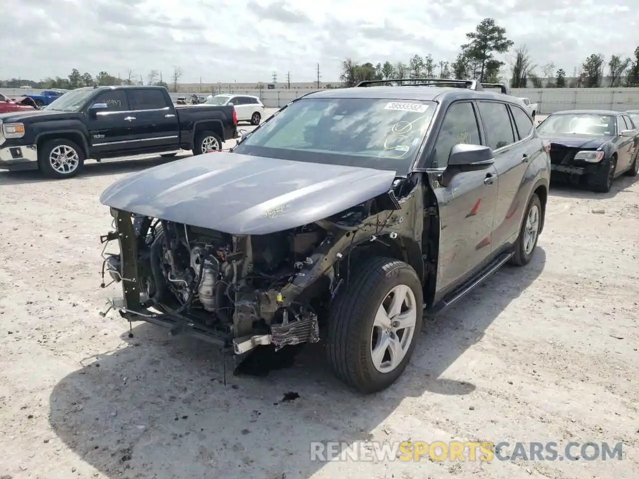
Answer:
<svg viewBox="0 0 639 479"><path fill-rule="evenodd" d="M71 178L86 158L194 155L238 137L235 107L175 107L161 86L86 87L42 110L0 114L0 169Z"/></svg>

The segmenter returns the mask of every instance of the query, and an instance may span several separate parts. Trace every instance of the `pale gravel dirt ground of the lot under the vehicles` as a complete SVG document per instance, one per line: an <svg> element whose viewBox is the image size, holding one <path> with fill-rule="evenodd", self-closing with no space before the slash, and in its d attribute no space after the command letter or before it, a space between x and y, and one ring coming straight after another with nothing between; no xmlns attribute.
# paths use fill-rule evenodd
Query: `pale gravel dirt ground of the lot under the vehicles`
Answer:
<svg viewBox="0 0 639 479"><path fill-rule="evenodd" d="M119 316L98 316L119 293L98 287L98 236L111 225L98 195L164 161L89 163L68 181L0 172L1 478L639 477L639 181L620 178L610 194L553 188L534 261L426 321L401 379L360 397L328 372L321 342L267 377L227 370L225 386L207 344L144 323L129 337ZM287 392L298 399L283 402ZM624 456L309 455L311 441L453 439L560 452L623 441Z"/></svg>

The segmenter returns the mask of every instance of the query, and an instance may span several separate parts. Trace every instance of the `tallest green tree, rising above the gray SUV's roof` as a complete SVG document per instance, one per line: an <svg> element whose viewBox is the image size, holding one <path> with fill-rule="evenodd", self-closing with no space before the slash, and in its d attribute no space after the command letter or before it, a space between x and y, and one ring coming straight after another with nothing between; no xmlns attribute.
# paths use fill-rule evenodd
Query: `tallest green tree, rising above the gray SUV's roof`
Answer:
<svg viewBox="0 0 639 479"><path fill-rule="evenodd" d="M486 75L486 65L488 61L495 61L504 65L503 62L495 60L494 53L505 53L514 44L512 40L508 40L505 36L506 29L495 23L495 19L486 18L482 20L475 31L466 33L468 43L462 45L465 56L475 61L475 79L483 82ZM494 70L495 63L491 63ZM488 72L491 73L491 72Z"/></svg>

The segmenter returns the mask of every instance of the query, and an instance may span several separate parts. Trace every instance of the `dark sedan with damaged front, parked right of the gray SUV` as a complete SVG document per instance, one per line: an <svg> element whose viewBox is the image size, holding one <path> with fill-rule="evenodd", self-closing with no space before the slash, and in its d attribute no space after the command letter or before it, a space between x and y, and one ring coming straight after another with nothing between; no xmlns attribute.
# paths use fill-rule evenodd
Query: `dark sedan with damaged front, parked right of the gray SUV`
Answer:
<svg viewBox="0 0 639 479"><path fill-rule="evenodd" d="M553 179L578 179L608 192L613 179L639 171L639 130L627 112L569 110L551 114L539 126L550 141Z"/></svg>

